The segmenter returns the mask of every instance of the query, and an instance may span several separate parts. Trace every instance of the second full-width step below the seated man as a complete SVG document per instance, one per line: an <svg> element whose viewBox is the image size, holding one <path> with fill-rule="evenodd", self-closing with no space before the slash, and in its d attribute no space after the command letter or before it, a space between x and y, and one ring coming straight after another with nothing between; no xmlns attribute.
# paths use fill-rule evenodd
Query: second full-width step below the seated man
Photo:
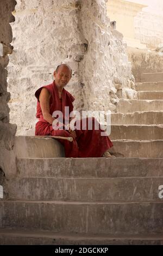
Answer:
<svg viewBox="0 0 163 256"><path fill-rule="evenodd" d="M87 202L160 202L162 177L14 178L8 182L10 199Z"/></svg>

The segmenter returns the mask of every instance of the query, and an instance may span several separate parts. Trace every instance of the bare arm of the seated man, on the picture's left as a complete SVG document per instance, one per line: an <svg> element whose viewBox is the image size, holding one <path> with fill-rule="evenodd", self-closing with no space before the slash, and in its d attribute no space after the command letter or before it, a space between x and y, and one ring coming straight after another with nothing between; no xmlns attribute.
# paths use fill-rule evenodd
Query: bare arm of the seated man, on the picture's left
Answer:
<svg viewBox="0 0 163 256"><path fill-rule="evenodd" d="M52 115L50 114L50 106L49 106L50 98L51 98L51 94L48 92L48 90L46 88L42 88L39 96L39 101L40 101L43 119L45 119L48 123L52 124L55 118L53 118Z"/></svg>

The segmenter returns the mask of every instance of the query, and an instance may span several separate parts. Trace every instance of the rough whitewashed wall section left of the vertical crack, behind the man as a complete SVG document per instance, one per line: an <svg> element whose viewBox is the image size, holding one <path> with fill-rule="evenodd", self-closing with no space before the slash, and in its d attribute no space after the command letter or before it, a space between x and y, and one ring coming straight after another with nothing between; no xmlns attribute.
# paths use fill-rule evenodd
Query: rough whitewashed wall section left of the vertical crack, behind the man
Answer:
<svg viewBox="0 0 163 256"><path fill-rule="evenodd" d="M81 106L78 55L84 51L84 42L79 35L78 13L76 0L17 1L8 83L12 91L10 118L17 123L18 134L35 126L34 92L52 82L53 71L61 62L73 69L67 89L74 88L76 107Z"/></svg>

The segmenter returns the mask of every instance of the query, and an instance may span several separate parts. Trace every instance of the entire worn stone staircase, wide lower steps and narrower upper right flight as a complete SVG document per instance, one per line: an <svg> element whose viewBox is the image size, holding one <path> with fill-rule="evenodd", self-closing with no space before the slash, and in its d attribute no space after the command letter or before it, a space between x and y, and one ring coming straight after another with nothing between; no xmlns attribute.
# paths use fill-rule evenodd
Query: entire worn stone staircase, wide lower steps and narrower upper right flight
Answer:
<svg viewBox="0 0 163 256"><path fill-rule="evenodd" d="M138 99L121 100L112 114L110 151L124 157L64 158L56 140L17 136L0 244L163 244L161 77L143 74Z"/></svg>

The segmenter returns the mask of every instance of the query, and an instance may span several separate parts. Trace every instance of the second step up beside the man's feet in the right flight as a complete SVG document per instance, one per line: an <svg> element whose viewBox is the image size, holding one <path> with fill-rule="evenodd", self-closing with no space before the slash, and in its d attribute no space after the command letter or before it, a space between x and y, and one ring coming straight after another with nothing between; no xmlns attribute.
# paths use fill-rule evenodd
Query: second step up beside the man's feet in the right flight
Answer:
<svg viewBox="0 0 163 256"><path fill-rule="evenodd" d="M162 120L163 121L163 120ZM112 125L111 140L161 140L163 139L163 124L155 125Z"/></svg>

